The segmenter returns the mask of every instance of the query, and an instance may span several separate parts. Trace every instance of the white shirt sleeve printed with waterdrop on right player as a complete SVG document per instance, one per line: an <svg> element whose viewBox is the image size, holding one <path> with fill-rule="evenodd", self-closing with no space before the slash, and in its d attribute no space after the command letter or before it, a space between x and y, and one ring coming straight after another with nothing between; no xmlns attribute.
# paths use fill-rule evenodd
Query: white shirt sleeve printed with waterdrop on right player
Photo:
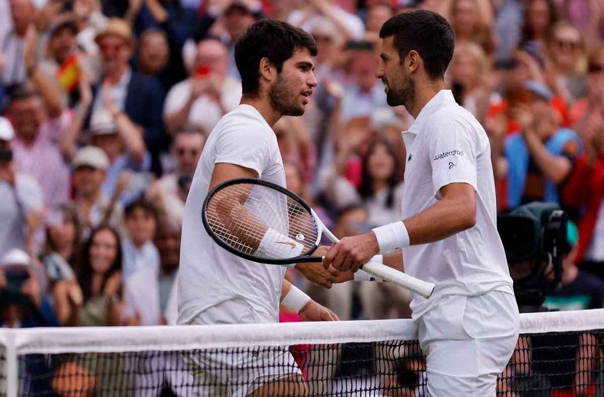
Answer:
<svg viewBox="0 0 604 397"><path fill-rule="evenodd" d="M451 183L467 183L478 190L475 134L454 120L440 123L428 134L434 196L440 199L440 188Z"/></svg>

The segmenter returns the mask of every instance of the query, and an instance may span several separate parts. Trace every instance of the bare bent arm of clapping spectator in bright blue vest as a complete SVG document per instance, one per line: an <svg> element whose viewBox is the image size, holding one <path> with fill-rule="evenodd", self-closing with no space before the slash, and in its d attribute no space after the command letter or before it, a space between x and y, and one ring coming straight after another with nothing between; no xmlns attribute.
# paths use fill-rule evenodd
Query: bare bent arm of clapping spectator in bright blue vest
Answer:
<svg viewBox="0 0 604 397"><path fill-rule="evenodd" d="M541 138L533 131L534 116L530 109L525 106L517 106L513 109L513 113L522 126L522 135L527 144L528 153L535 161L536 166L539 167L546 178L555 184L558 185L564 182L573 169L571 161L567 157L553 155L547 150Z"/></svg>

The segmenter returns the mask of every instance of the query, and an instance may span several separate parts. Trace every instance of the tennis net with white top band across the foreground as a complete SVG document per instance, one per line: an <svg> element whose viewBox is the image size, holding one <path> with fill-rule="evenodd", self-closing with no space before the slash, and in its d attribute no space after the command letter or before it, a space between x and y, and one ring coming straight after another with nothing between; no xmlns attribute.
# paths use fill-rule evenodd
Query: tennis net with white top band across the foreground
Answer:
<svg viewBox="0 0 604 397"><path fill-rule="evenodd" d="M604 309L523 314L497 395L603 396L602 347ZM0 396L422 397L425 385L411 320L0 331Z"/></svg>

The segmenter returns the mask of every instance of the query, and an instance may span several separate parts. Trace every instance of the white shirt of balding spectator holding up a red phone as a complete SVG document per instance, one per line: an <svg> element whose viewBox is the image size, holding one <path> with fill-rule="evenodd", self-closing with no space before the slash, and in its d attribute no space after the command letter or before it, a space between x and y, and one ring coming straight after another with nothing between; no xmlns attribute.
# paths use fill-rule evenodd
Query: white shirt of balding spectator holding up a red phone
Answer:
<svg viewBox="0 0 604 397"><path fill-rule="evenodd" d="M173 86L165 98L164 118L172 112L184 108L191 96L191 79L184 80ZM241 83L231 77L225 77L222 83L222 106L226 111L232 111L241 100ZM220 105L214 100L201 95L193 102L187 123L201 125L208 131L214 128L222 117Z"/></svg>

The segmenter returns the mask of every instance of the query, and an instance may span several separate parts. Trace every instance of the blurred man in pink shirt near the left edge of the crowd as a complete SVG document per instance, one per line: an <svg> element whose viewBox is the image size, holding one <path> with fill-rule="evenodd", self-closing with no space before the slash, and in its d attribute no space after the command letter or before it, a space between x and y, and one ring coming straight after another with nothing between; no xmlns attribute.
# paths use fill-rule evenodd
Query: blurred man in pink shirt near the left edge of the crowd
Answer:
<svg viewBox="0 0 604 397"><path fill-rule="evenodd" d="M60 106L54 111L49 106L48 97L60 97L53 83L41 73L36 79L45 80L39 94L21 86L11 95L7 118L14 127L14 164L19 172L36 178L44 192L47 205L57 205L68 201L69 170L63 162L59 150L59 139L71 117Z"/></svg>

